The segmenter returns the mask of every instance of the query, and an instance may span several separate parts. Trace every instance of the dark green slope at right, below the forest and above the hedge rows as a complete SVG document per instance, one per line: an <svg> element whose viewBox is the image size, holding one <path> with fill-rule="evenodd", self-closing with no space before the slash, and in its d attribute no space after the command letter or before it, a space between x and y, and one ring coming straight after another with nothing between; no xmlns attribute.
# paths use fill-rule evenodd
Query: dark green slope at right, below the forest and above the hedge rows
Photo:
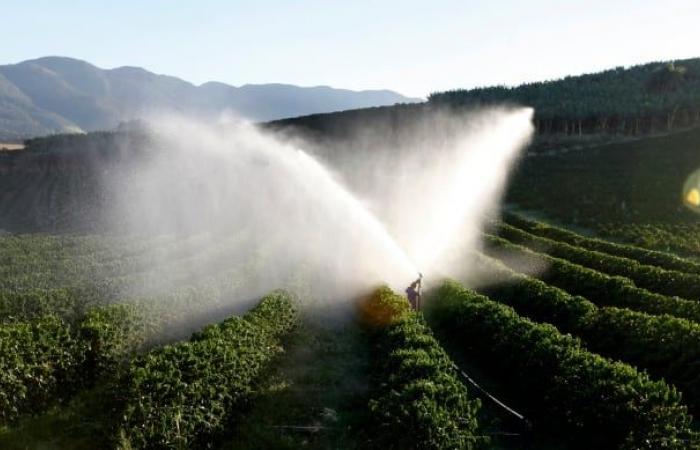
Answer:
<svg viewBox="0 0 700 450"><path fill-rule="evenodd" d="M700 254L698 215L683 205L684 183L700 167L700 127L543 147L519 161L508 203L635 245Z"/></svg>

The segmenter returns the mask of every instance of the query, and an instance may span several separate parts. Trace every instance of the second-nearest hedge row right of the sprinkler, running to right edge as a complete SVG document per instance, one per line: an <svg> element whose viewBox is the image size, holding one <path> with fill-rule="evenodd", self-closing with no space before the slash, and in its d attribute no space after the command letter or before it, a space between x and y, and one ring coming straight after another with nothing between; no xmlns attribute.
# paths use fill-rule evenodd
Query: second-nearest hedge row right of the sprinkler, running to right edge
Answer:
<svg viewBox="0 0 700 450"><path fill-rule="evenodd" d="M548 322L583 339L586 347L663 377L700 411L700 325L668 315L614 307L598 308L546 283L513 272L490 259L478 259L492 274L481 292L532 320Z"/></svg>

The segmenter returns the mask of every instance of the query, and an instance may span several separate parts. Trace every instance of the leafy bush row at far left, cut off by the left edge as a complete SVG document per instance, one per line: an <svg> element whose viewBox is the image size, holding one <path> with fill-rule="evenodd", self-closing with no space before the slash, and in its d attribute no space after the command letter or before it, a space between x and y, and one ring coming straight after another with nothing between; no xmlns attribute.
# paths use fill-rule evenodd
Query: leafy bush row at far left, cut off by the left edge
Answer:
<svg viewBox="0 0 700 450"><path fill-rule="evenodd" d="M0 425L45 411L113 373L143 344L126 305L96 308L71 325L47 315L0 325Z"/></svg>

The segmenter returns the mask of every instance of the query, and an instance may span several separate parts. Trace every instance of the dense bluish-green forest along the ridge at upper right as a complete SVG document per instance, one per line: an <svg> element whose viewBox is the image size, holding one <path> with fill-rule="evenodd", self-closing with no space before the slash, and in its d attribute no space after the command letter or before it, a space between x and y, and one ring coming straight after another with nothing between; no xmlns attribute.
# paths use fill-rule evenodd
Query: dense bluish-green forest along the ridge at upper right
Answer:
<svg viewBox="0 0 700 450"><path fill-rule="evenodd" d="M535 108L538 134L646 134L700 124L700 58L555 81L433 93L433 105Z"/></svg>

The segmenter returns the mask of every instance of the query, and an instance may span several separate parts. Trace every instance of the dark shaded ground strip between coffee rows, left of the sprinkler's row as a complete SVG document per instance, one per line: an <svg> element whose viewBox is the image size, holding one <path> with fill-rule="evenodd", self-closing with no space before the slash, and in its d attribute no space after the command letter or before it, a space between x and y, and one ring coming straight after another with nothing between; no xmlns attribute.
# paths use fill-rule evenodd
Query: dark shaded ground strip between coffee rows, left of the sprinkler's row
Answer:
<svg viewBox="0 0 700 450"><path fill-rule="evenodd" d="M352 324L304 323L222 449L362 448L369 352Z"/></svg>

